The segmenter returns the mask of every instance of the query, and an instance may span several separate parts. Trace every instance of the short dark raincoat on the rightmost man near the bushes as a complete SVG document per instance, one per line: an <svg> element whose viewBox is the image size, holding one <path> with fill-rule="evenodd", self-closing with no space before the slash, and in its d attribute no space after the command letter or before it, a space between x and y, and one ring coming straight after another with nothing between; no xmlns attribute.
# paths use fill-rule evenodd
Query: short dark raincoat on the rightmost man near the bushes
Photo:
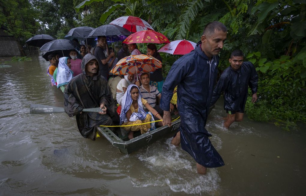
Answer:
<svg viewBox="0 0 306 196"><path fill-rule="evenodd" d="M227 67L215 86L211 105L215 104L221 93L224 92L224 110L244 112L248 86L252 94L257 93L257 82L258 75L251 62L243 62L237 71L232 67Z"/></svg>

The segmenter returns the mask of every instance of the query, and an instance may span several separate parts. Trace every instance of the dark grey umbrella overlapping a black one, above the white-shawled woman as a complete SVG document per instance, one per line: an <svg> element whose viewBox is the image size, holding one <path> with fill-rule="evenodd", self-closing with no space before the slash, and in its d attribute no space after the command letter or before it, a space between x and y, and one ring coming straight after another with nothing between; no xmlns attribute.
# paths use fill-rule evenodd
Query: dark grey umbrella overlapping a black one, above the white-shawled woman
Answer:
<svg viewBox="0 0 306 196"><path fill-rule="evenodd" d="M40 51L54 51L54 50L75 50L78 46L68 39L55 39L46 43L40 48Z"/></svg>

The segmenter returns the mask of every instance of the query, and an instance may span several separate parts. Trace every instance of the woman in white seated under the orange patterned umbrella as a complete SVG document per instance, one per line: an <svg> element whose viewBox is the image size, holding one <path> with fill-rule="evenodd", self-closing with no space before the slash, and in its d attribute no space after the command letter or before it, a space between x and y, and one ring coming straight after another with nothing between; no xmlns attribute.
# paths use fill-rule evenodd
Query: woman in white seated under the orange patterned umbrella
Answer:
<svg viewBox="0 0 306 196"><path fill-rule="evenodd" d="M129 74L125 75L123 79L121 79L117 85L117 90L116 90L116 100L121 105L122 97L128 88L129 85L131 84L136 84L140 86L139 81L135 83L135 77L134 74Z"/></svg>

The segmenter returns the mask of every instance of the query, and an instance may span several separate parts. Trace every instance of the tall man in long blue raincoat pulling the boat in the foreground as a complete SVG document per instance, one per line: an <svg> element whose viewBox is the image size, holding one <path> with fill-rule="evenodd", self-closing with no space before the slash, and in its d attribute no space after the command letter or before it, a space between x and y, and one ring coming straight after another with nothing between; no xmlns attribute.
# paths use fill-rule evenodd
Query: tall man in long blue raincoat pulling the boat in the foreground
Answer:
<svg viewBox="0 0 306 196"><path fill-rule="evenodd" d="M217 79L218 54L226 40L224 24L214 21L206 25L201 41L190 53L172 65L162 88L160 108L163 122L171 125L170 100L177 86L177 107L181 116L180 131L173 144L187 151L196 161L197 172L206 174L207 168L220 167L224 162L205 129L213 86Z"/></svg>

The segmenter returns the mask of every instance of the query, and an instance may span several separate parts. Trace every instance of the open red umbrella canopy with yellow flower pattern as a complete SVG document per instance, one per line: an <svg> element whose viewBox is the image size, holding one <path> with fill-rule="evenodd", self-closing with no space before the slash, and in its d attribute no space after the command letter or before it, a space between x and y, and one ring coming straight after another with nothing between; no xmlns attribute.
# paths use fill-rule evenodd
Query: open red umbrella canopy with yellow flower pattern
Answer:
<svg viewBox="0 0 306 196"><path fill-rule="evenodd" d="M152 30L144 30L133 33L129 35L122 43L132 44L132 43L170 43L168 38L165 35L152 31Z"/></svg>

